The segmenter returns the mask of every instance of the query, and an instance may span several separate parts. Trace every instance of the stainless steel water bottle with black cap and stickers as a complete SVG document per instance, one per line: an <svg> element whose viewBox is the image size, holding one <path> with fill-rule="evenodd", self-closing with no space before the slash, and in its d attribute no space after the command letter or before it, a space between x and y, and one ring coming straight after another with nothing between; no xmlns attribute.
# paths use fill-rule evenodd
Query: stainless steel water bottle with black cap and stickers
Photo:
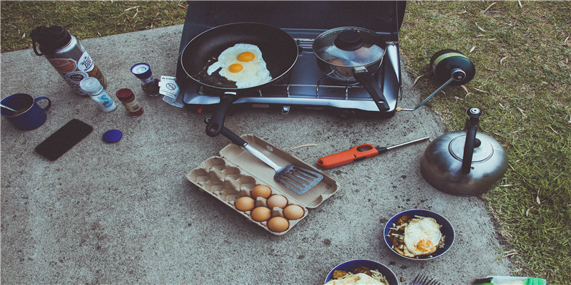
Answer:
<svg viewBox="0 0 571 285"><path fill-rule="evenodd" d="M75 36L61 26L39 26L31 31L32 47L38 56L45 56L51 66L56 68L59 75L78 95L86 96L81 90L79 83L88 77L97 78L103 87L107 87L107 81L103 73L95 65L91 56L81 46ZM36 48L39 43L39 50Z"/></svg>

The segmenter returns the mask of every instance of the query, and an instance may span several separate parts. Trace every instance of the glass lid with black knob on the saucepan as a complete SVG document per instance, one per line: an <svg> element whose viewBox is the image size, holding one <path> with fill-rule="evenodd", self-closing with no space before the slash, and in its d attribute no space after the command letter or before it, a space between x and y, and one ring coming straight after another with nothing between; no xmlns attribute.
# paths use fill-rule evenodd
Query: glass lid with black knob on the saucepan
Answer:
<svg viewBox="0 0 571 285"><path fill-rule="evenodd" d="M333 28L315 38L313 53L335 66L366 66L383 58L385 43L365 28Z"/></svg>

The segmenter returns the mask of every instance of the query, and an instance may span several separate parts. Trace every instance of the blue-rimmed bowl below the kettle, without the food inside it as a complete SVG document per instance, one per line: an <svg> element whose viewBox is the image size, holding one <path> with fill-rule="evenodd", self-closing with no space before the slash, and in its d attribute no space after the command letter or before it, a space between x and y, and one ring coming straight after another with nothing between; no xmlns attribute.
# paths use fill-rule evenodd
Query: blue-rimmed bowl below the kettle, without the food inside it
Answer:
<svg viewBox="0 0 571 285"><path fill-rule="evenodd" d="M421 217L431 217L431 218L435 219L436 222L438 222L438 224L440 224L442 226L442 227L440 227L440 232L442 232L442 234L444 235L444 247L436 249L436 252L431 254L430 257L405 257L404 255L399 254L397 251L395 251L395 249L393 249L393 245L390 243L387 235L390 232L390 228L393 227L393 224L395 224L395 221L400 216L402 216L403 214L406 214L409 217L421 216ZM440 215L436 212L433 212L433 211L429 211L428 209L409 209L409 210L406 210L404 212L400 212L398 214L395 214L395 216L390 218L388 220L387 224L385 225L385 231L384 231L383 236L385 237L385 244L387 244L388 248L391 251L393 251L399 257L404 257L405 259L412 259L412 260L435 259L436 257L440 257L441 255L445 254L445 252L448 252L448 249L450 249L450 247L452 247L452 244L454 244L454 228L452 227L452 224L450 224L448 219L446 219L442 215Z"/></svg>

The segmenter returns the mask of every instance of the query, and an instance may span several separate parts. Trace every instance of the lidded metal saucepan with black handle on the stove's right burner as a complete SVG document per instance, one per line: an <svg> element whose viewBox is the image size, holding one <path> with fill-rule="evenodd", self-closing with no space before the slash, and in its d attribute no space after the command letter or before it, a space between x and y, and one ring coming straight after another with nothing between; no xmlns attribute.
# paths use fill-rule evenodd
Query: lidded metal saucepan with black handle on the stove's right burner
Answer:
<svg viewBox="0 0 571 285"><path fill-rule="evenodd" d="M333 28L315 38L313 53L328 77L361 83L381 112L390 109L373 77L386 53L385 42L375 32L358 27Z"/></svg>

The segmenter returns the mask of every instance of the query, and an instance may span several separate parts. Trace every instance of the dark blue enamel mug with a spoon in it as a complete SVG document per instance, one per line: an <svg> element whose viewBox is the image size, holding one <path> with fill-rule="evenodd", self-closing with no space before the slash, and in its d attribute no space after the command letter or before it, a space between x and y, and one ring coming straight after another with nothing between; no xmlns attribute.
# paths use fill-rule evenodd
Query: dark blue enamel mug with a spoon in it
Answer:
<svg viewBox="0 0 571 285"><path fill-rule="evenodd" d="M38 105L40 100L48 100L48 105L41 108ZM7 108L0 108L0 114L19 130L34 130L44 125L46 123L46 110L51 107L49 98L41 96L34 99L31 95L25 93L9 95L2 99L1 103L8 108L16 110L14 112Z"/></svg>

